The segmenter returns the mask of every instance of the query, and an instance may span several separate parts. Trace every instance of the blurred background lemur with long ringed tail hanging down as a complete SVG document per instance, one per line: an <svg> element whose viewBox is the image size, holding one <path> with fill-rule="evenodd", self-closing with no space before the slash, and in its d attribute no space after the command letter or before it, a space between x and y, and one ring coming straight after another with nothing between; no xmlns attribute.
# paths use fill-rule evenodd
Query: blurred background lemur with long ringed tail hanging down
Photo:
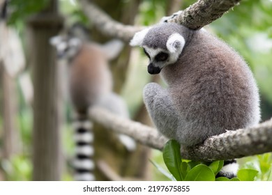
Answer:
<svg viewBox="0 0 272 195"><path fill-rule="evenodd" d="M108 62L123 47L119 40L105 45L83 42L80 38L56 36L51 39L59 59L67 59L69 65L69 92L73 107L77 111L75 127L76 169L75 180L95 180L93 176L93 132L92 123L87 116L88 109L100 106L128 118L128 108L123 99L112 92L112 75ZM127 148L134 150L135 141L119 134L119 140Z"/></svg>

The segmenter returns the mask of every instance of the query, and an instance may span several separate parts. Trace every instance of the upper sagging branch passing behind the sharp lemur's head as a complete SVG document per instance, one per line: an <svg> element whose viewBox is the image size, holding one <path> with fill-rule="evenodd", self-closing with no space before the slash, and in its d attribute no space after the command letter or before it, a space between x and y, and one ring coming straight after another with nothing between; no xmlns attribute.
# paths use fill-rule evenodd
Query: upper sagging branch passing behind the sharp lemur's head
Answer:
<svg viewBox="0 0 272 195"><path fill-rule="evenodd" d="M200 29L221 17L241 0L199 0L167 22L183 24L189 29ZM80 5L89 20L101 33L129 42L133 35L144 27L124 25L112 20L103 10L88 0L80 0Z"/></svg>

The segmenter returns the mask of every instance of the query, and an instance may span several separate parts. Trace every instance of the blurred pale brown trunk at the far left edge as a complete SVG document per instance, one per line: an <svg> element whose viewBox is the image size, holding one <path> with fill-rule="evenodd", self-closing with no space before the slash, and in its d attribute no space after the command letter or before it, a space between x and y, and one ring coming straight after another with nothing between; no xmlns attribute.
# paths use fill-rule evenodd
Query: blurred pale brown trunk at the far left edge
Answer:
<svg viewBox="0 0 272 195"><path fill-rule="evenodd" d="M1 117L3 118L3 157L10 159L19 152L20 142L19 133L16 126L17 117L17 94L15 75L12 71L15 70L10 58L14 57L10 49L14 49L10 45L13 36L10 36L10 29L5 21L0 21L0 86L1 86Z"/></svg>

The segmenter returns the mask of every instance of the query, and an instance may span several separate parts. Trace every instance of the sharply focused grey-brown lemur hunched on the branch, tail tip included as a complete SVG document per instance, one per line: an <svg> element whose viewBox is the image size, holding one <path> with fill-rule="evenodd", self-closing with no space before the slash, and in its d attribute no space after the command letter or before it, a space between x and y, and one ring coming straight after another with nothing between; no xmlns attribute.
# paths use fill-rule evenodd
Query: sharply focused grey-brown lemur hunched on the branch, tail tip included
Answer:
<svg viewBox="0 0 272 195"><path fill-rule="evenodd" d="M130 45L143 47L149 74L160 73L167 84L144 87L146 108L165 137L190 147L259 123L259 93L252 72L222 40L203 29L160 23L135 33ZM226 161L219 174L234 177L234 162Z"/></svg>

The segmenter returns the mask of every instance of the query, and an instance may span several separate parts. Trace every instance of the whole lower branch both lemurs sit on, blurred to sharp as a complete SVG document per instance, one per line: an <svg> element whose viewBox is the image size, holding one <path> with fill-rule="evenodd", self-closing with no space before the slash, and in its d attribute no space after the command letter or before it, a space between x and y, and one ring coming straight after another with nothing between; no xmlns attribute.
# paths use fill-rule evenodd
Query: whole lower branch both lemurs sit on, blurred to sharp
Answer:
<svg viewBox="0 0 272 195"><path fill-rule="evenodd" d="M167 139L160 136L154 128L126 118L120 118L105 109L93 107L89 110L91 120L114 130L127 134L144 145L162 150ZM199 161L234 159L258 155L272 151L272 119L257 127L228 131L206 139L199 146L181 148L181 157Z"/></svg>

